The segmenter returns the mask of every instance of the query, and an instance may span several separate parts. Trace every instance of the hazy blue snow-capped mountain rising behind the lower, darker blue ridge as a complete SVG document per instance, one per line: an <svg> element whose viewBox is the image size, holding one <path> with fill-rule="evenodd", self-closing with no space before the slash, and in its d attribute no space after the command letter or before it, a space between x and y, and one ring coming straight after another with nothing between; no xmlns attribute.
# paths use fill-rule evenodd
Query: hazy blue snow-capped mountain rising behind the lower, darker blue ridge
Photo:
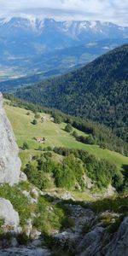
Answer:
<svg viewBox="0 0 128 256"><path fill-rule="evenodd" d="M128 27L101 21L0 20L1 60L38 55L102 39L128 38ZM5 58L4 58L5 56Z"/></svg>

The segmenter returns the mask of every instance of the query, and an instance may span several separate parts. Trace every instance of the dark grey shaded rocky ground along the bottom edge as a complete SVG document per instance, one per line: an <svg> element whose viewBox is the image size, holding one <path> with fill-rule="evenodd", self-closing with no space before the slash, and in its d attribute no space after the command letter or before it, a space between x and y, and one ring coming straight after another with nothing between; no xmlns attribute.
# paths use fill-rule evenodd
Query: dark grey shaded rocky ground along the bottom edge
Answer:
<svg viewBox="0 0 128 256"><path fill-rule="evenodd" d="M44 239L38 238L26 247L1 249L0 255L22 256L127 256L128 255L128 218L120 224L118 232L112 235L102 226L97 216L90 209L79 205L68 205L73 218L73 227L50 237L49 247L44 246ZM104 213L105 214L105 213ZM108 214L108 212L106 212ZM109 213L110 214L110 213ZM114 219L114 214L113 219ZM55 253L55 254L53 254ZM64 254L65 253L65 254Z"/></svg>

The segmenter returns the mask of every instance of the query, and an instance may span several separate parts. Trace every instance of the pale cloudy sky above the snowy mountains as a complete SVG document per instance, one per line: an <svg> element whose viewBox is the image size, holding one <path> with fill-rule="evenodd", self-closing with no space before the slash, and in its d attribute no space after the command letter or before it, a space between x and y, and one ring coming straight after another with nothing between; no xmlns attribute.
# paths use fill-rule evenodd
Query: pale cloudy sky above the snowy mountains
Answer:
<svg viewBox="0 0 128 256"><path fill-rule="evenodd" d="M0 0L0 16L102 20L128 26L128 0Z"/></svg>

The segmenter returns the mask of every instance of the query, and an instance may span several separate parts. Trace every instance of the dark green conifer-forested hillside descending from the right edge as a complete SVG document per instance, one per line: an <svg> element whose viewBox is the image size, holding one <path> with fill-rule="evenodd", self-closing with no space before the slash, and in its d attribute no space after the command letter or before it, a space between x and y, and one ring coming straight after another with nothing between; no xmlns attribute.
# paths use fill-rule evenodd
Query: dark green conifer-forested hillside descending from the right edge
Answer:
<svg viewBox="0 0 128 256"><path fill-rule="evenodd" d="M59 78L16 91L16 96L108 125L128 141L128 44Z"/></svg>

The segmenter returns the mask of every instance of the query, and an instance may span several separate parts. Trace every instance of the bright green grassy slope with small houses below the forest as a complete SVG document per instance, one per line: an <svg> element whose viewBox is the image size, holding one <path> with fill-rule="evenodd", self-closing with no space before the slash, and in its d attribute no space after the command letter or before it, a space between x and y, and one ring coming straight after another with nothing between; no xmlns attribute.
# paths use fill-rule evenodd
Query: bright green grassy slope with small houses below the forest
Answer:
<svg viewBox="0 0 128 256"><path fill-rule="evenodd" d="M38 154L38 151L35 149L38 146L47 147L47 146L60 146L67 148L81 148L88 151L90 154L95 154L97 158L104 158L109 160L119 168L122 165L128 165L128 157L125 157L121 154L109 151L107 149L99 148L96 145L86 145L83 143L79 143L63 130L66 124L55 124L48 114L42 113L41 116L46 116L47 119L42 123L40 119L38 119L38 125L32 125L32 120L34 119L34 113L30 112L30 115L26 115L27 111L22 108L15 108L9 105L5 105L5 109L9 120L14 128L15 137L17 139L17 143L19 147L22 147L24 142L29 144L31 150L26 152L20 152L20 157L24 161L30 154ZM76 129L74 129L76 130ZM77 130L76 130L77 131ZM79 135L84 135L83 132L77 131ZM45 137L46 143L40 144L33 140L33 137Z"/></svg>

